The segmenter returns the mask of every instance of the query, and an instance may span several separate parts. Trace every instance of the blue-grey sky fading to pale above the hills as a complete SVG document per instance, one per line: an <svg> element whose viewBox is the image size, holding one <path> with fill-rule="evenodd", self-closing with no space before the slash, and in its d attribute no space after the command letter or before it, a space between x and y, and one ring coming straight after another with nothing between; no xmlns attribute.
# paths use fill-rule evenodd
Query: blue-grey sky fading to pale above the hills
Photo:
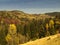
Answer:
<svg viewBox="0 0 60 45"><path fill-rule="evenodd" d="M33 14L60 12L60 0L0 0L0 10L20 10Z"/></svg>

